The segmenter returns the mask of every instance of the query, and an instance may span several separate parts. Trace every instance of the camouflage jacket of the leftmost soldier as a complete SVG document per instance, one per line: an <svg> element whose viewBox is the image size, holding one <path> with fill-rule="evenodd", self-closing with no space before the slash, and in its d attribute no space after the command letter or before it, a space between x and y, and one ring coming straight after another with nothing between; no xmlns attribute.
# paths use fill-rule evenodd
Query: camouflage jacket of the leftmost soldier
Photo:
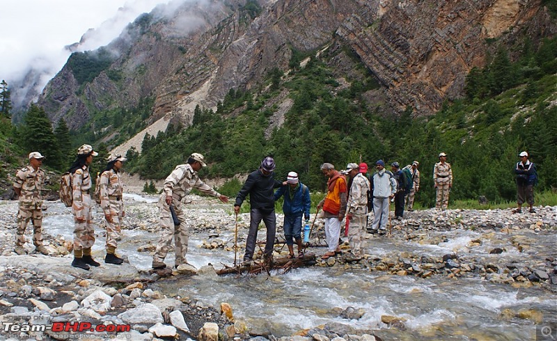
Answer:
<svg viewBox="0 0 557 341"><path fill-rule="evenodd" d="M41 191L45 186L45 172L44 170L31 166L22 168L15 174L15 182L13 187L21 189L19 194L19 205L40 207L42 205Z"/></svg>

